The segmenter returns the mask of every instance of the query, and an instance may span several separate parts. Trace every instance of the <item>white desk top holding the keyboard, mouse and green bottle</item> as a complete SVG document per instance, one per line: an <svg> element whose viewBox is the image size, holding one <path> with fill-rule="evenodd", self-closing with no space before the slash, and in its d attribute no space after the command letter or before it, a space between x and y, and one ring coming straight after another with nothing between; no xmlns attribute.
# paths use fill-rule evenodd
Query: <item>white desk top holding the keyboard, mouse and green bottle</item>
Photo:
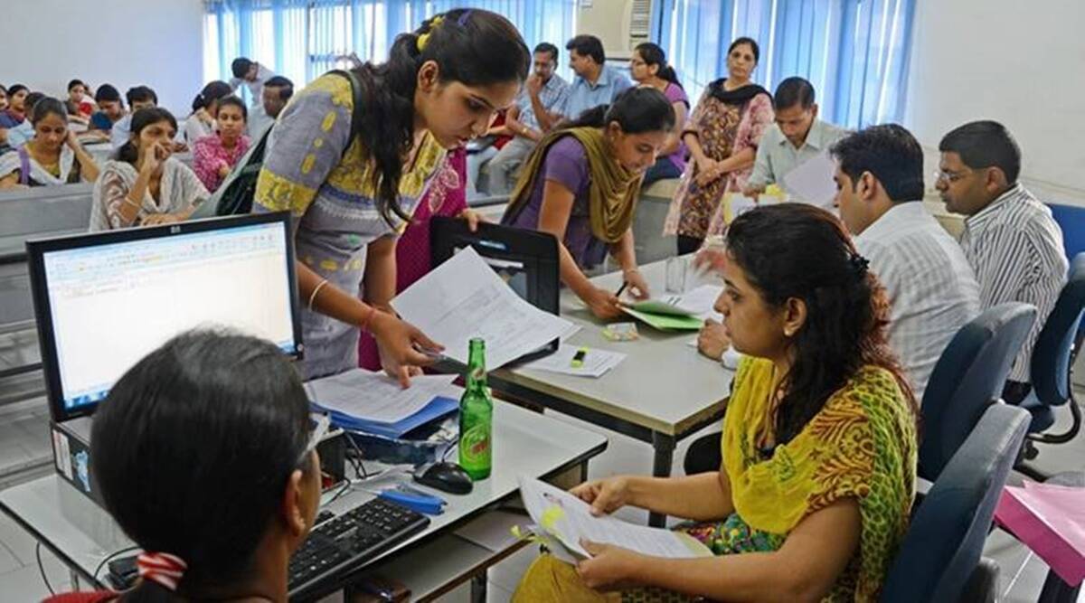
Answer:
<svg viewBox="0 0 1085 603"><path fill-rule="evenodd" d="M516 476L551 477L570 467L584 465L607 448L607 438L519 407L497 401L494 406L494 472L475 484L469 495L436 492L448 500L442 515L431 516L430 526L374 557L358 572L378 561L394 561L465 524L497 505L518 490ZM379 488L380 480L367 485ZM417 485L420 489L424 486ZM324 509L342 513L373 498L353 490ZM80 495L56 474L0 492L0 509L52 551L73 572L97 588L99 565L111 554L131 547L108 514ZM525 517L525 524L529 521ZM125 553L126 556L130 553ZM95 576L95 570L98 575ZM327 593L345 586L352 576L336 576L327 583Z"/></svg>

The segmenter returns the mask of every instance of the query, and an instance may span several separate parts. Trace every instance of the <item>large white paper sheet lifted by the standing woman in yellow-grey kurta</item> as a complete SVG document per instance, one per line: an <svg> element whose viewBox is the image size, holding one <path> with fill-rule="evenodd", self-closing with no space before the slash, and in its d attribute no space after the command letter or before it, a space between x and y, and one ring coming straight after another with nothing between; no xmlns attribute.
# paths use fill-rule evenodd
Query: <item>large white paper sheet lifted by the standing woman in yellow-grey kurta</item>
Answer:
<svg viewBox="0 0 1085 603"><path fill-rule="evenodd" d="M399 315L467 363L468 341L486 341L486 369L503 367L575 329L524 302L468 247L392 300Z"/></svg>

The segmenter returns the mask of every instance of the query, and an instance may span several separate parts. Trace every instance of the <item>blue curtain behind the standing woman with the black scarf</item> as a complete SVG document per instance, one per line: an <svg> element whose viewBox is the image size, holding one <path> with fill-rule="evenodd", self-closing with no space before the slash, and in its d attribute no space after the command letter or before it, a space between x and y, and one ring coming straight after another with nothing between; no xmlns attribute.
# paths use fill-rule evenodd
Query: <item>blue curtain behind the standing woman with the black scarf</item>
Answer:
<svg viewBox="0 0 1085 603"><path fill-rule="evenodd" d="M660 0L653 30L691 94L727 75L727 47L748 36L761 47L755 81L771 91L804 77L822 118L859 128L904 116L915 3Z"/></svg>

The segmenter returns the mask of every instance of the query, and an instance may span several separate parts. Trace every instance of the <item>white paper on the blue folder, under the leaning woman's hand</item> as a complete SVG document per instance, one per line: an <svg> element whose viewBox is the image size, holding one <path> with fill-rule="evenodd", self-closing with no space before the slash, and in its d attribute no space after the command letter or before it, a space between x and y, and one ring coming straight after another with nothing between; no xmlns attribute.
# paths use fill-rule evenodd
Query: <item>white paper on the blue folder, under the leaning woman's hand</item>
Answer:
<svg viewBox="0 0 1085 603"><path fill-rule="evenodd" d="M399 382L365 369L310 381L309 398L318 405L354 418L378 423L398 423L445 394L457 375L421 375L407 389Z"/></svg>

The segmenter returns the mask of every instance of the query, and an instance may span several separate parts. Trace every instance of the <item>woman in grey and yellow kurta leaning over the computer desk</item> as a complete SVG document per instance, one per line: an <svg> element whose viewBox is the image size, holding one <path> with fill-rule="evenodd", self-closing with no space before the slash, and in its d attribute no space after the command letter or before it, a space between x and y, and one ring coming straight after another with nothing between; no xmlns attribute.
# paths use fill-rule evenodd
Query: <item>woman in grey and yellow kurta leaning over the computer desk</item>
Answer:
<svg viewBox="0 0 1085 603"><path fill-rule="evenodd" d="M306 377L356 368L359 329L373 334L385 371L404 385L429 362L419 348L442 349L392 311L395 238L445 150L486 132L512 104L529 62L505 17L454 10L397 37L386 63L354 69L365 103L355 138L344 77L318 78L283 110L254 210L297 217Z"/></svg>

